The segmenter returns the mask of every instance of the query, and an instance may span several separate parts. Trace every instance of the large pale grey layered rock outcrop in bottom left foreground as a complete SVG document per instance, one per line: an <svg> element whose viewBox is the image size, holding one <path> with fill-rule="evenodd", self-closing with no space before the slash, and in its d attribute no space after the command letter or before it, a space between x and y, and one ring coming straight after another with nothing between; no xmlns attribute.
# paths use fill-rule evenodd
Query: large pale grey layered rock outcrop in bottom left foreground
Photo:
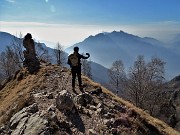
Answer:
<svg viewBox="0 0 180 135"><path fill-rule="evenodd" d="M11 135L38 135L48 133L48 121L40 116L36 103L23 108L17 112L10 120Z"/></svg>

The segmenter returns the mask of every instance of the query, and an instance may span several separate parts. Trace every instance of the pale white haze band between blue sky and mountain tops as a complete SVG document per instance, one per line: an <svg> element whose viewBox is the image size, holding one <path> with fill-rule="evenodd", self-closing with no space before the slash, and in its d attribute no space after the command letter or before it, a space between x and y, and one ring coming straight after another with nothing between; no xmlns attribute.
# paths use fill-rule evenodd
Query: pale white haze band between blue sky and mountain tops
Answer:
<svg viewBox="0 0 180 135"><path fill-rule="evenodd" d="M141 37L153 37L168 41L174 34L180 33L179 22L164 21L137 25L81 25L81 24L50 24L40 22L6 22L0 21L1 30L11 33L31 33L36 39L50 42L61 42L65 46L78 43L90 35L102 31L112 32L123 30ZM51 33L51 36L49 35Z"/></svg>

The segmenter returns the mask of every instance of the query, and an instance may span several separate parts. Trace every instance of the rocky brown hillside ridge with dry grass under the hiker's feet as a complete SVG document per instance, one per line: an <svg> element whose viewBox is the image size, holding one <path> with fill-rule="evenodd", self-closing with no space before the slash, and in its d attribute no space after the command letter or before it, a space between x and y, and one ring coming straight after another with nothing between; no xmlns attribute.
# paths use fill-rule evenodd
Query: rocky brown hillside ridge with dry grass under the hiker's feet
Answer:
<svg viewBox="0 0 180 135"><path fill-rule="evenodd" d="M66 68L19 71L0 90L0 134L178 135L164 122L83 77L85 93L71 90Z"/></svg>

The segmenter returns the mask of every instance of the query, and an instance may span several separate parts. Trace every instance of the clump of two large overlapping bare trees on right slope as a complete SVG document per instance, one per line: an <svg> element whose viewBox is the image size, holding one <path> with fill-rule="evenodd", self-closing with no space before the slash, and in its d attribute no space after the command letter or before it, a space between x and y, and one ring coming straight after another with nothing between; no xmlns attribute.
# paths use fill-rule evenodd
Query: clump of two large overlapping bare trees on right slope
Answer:
<svg viewBox="0 0 180 135"><path fill-rule="evenodd" d="M134 66L130 68L126 91L129 100L136 106L153 114L155 106L162 100L164 81L164 65L159 58L152 58L146 64L143 56L138 56Z"/></svg>

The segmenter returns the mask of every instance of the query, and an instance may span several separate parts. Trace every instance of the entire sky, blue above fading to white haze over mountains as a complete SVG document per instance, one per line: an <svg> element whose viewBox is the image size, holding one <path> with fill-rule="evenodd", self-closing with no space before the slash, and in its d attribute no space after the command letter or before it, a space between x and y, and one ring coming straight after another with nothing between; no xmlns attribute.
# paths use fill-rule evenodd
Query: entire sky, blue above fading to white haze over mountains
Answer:
<svg viewBox="0 0 180 135"><path fill-rule="evenodd" d="M180 33L180 0L0 0L0 31L14 35L66 48L114 30L170 40Z"/></svg>

